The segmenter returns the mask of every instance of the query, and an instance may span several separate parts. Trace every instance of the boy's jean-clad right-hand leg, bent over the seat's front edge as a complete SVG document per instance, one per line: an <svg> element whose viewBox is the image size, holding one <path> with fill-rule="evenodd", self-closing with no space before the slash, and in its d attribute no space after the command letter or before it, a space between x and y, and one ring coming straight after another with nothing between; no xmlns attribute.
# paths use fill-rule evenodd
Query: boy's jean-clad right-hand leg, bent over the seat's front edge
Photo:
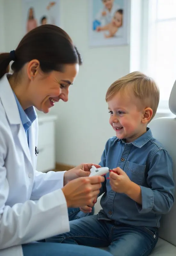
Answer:
<svg viewBox="0 0 176 256"><path fill-rule="evenodd" d="M156 245L155 228L114 226L109 252L114 256L148 256Z"/></svg>

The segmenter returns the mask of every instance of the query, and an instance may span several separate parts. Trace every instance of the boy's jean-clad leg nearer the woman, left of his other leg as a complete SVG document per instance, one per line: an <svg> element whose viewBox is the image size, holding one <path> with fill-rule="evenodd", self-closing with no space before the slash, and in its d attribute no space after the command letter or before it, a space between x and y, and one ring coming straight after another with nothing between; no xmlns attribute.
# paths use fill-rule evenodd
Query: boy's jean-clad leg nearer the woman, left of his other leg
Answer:
<svg viewBox="0 0 176 256"><path fill-rule="evenodd" d="M97 215L70 221L70 232L46 239L46 242L106 247L109 242L108 224Z"/></svg>

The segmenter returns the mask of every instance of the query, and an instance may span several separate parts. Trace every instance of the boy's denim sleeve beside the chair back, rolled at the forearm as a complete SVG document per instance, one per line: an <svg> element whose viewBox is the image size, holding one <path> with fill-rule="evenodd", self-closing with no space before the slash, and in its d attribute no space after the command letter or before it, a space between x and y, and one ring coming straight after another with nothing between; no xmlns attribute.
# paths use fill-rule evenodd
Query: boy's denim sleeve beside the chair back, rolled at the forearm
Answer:
<svg viewBox="0 0 176 256"><path fill-rule="evenodd" d="M166 150L158 150L150 159L147 186L141 186L140 213L168 213L174 201L173 162Z"/></svg>

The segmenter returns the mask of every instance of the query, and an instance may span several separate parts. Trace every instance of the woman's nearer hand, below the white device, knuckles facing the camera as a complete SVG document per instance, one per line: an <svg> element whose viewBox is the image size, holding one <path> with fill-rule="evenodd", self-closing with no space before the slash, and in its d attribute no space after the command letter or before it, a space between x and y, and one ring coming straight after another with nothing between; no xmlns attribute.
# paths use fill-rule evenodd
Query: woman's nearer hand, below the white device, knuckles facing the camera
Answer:
<svg viewBox="0 0 176 256"><path fill-rule="evenodd" d="M62 188L68 207L80 207L92 205L96 196L100 193L101 183L105 178L102 176L82 177L71 180Z"/></svg>

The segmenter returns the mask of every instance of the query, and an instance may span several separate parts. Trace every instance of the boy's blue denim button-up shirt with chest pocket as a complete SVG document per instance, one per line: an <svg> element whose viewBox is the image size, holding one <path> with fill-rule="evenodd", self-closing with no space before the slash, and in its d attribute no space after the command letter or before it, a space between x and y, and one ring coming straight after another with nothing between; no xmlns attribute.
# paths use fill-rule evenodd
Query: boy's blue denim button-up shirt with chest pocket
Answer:
<svg viewBox="0 0 176 256"><path fill-rule="evenodd" d="M110 138L100 165L110 169L119 166L130 180L140 185L142 205L126 194L114 192L108 173L100 190L100 195L105 193L98 219L158 228L161 215L170 211L174 201L173 163L167 150L152 137L151 130L147 128L146 133L131 143Z"/></svg>

